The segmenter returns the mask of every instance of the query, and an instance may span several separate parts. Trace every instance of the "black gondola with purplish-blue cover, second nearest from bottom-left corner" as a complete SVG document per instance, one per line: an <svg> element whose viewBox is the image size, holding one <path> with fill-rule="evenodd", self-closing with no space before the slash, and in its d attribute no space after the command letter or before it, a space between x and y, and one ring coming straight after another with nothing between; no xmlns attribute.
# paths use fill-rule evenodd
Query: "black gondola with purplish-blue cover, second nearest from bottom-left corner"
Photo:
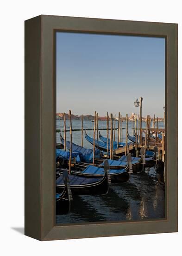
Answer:
<svg viewBox="0 0 182 256"><path fill-rule="evenodd" d="M93 166L93 168L96 168ZM96 168L97 169L97 168ZM62 172L65 169L56 168L56 193L62 193L64 189ZM101 178L82 177L77 174L69 175L70 189L73 195L106 195L108 193L110 175L107 170Z"/></svg>

